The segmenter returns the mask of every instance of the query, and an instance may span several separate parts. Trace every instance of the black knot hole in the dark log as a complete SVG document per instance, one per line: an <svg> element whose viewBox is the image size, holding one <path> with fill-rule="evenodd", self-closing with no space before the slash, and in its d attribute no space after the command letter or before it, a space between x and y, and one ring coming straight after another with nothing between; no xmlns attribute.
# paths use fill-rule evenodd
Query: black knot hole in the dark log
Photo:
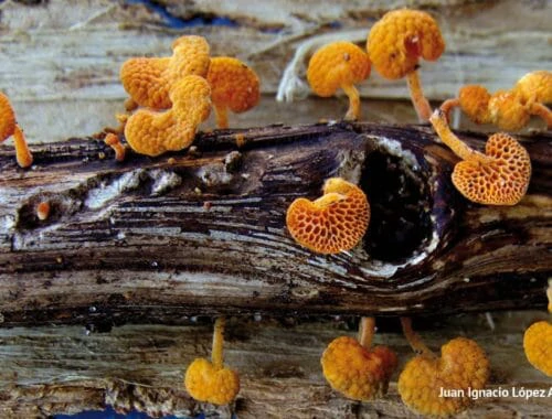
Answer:
<svg viewBox="0 0 552 419"><path fill-rule="evenodd" d="M360 185L372 212L364 248L374 259L401 261L432 236L428 182L404 164L397 157L373 151L362 168Z"/></svg>

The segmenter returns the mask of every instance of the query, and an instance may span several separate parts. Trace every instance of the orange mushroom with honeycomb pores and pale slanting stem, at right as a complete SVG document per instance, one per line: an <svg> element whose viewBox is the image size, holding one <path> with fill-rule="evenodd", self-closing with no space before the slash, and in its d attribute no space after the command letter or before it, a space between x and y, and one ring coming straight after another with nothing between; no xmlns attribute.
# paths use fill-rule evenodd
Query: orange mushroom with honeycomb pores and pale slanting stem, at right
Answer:
<svg viewBox="0 0 552 419"><path fill-rule="evenodd" d="M513 137L495 133L481 153L450 131L443 110L436 109L429 121L442 141L463 159L454 168L453 183L465 197L486 205L516 205L523 197L531 178L531 160Z"/></svg>

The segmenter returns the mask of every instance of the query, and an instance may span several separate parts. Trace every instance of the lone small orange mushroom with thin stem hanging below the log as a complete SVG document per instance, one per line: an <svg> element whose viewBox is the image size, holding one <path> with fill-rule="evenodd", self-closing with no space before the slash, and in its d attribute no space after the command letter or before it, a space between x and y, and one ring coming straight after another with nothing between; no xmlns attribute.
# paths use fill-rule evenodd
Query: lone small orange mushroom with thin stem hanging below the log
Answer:
<svg viewBox="0 0 552 419"><path fill-rule="evenodd" d="M224 325L224 318L216 319L211 362L195 358L185 372L185 389L195 400L227 405L240 391L240 376L223 363Z"/></svg>

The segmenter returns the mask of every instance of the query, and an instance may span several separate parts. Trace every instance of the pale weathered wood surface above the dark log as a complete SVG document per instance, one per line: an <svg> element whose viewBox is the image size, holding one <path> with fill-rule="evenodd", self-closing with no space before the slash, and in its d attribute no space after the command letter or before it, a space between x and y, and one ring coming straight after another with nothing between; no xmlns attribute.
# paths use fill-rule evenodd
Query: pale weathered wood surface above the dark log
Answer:
<svg viewBox="0 0 552 419"><path fill-rule="evenodd" d="M405 4L167 3L168 10L184 21L224 17L237 25L171 29L162 17L142 6L105 0L51 0L36 6L2 2L0 90L14 101L29 139L43 142L83 137L113 123L113 115L123 109L125 99L118 80L120 64L131 56L168 55L171 41L180 34L204 35L213 55L245 60L259 73L263 93L273 98L284 68L302 42L357 29L368 32L385 10ZM482 83L491 90L508 88L524 73L549 67L552 62L550 2L417 1L408 6L434 13L447 40L444 56L422 68L425 93L434 100L454 96L467 83ZM360 37L362 44L364 35ZM384 80L374 72L361 94L370 98L369 112L384 112L385 118L394 118L391 121L403 123L415 120L407 119L412 112L404 114L404 106L390 111L389 105L381 108L374 100L407 98L402 80ZM254 122L258 115L270 119L274 107L261 107L242 126L258 125ZM285 123L294 123L293 116L283 116ZM305 117L304 122L314 121Z"/></svg>

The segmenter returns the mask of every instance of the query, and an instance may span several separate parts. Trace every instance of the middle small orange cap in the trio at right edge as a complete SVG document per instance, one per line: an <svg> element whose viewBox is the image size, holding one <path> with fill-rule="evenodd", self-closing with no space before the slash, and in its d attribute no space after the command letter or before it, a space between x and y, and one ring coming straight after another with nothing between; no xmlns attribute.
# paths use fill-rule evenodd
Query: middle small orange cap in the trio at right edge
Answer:
<svg viewBox="0 0 552 419"><path fill-rule="evenodd" d="M511 92L499 90L489 99L489 115L492 123L506 131L518 131L531 118L529 109Z"/></svg>

